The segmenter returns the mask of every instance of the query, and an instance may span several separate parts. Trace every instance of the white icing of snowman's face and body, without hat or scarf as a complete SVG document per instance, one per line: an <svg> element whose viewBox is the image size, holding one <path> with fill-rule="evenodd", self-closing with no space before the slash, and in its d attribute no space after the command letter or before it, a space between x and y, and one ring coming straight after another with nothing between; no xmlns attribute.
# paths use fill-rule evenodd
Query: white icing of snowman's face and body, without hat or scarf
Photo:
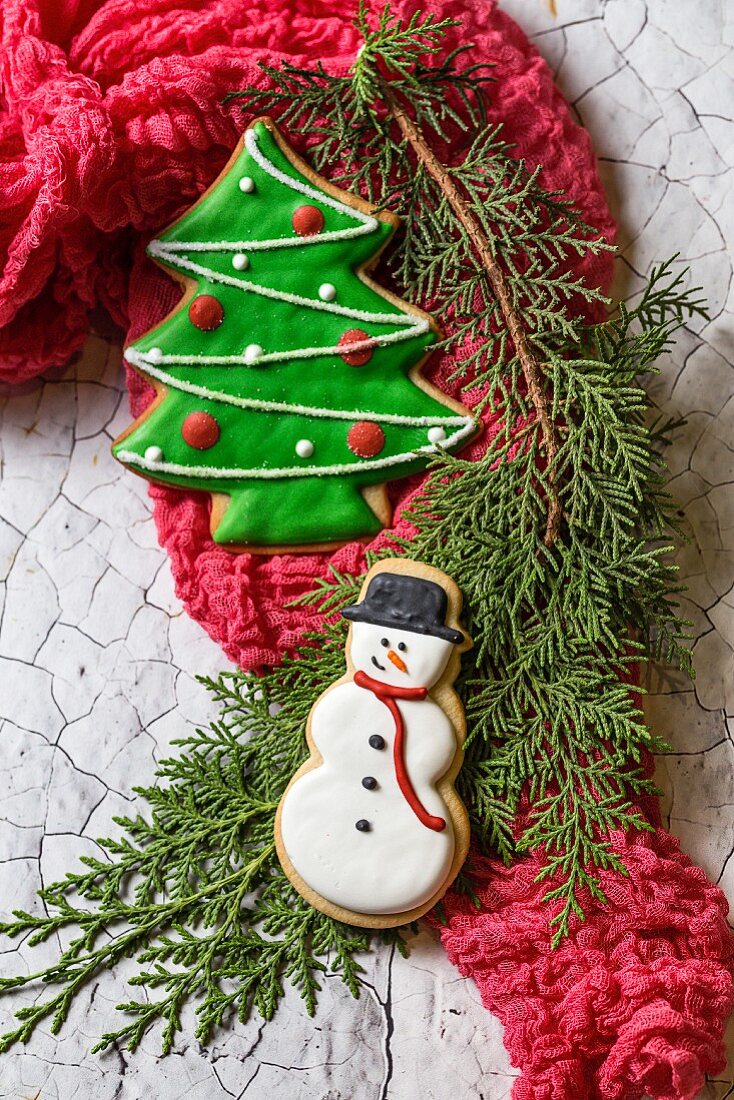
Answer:
<svg viewBox="0 0 734 1100"><path fill-rule="evenodd" d="M440 638L352 627L352 664L377 691L429 690L451 650ZM390 661L385 653L393 654ZM354 913L407 913L423 905L440 892L456 854L451 814L437 785L459 750L453 725L428 694L394 702L402 759L424 820L398 782L394 713L352 675L316 703L316 766L297 773L281 805L281 840L298 877L319 898ZM428 827L427 815L440 827Z"/></svg>

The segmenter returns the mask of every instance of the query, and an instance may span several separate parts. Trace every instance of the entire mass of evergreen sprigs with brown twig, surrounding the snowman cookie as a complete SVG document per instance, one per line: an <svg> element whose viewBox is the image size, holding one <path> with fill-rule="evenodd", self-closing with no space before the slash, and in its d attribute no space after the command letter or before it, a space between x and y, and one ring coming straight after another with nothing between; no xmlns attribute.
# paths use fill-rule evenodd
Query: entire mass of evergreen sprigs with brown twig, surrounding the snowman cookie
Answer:
<svg viewBox="0 0 734 1100"><path fill-rule="evenodd" d="M249 89L247 109L308 134L317 168L403 216L395 279L440 301L456 375L492 410L484 457L434 461L415 536L390 552L443 569L463 591L474 649L457 684L470 730L459 791L481 848L545 854L558 942L589 897L603 898L600 869L625 873L611 831L647 827L636 802L651 790L644 756L658 743L625 679L651 656L690 667L659 454L668 428L647 425L639 378L703 307L669 262L634 307L589 324L578 306L601 296L568 261L606 245L486 122L490 74L461 67L468 47L442 53L452 21L402 24L386 8L372 28L363 6L359 25L352 74L267 68L272 90ZM208 682L219 719L138 791L147 815L118 818L123 836L100 842L106 859L44 889L45 915L2 926L30 944L65 928L75 938L52 966L0 983L56 990L17 1013L0 1049L50 1016L57 1032L83 985L129 956L150 999L121 1005L128 1022L97 1049L134 1047L156 1023L171 1049L189 1001L201 1041L253 1008L270 1019L285 982L313 1012L326 972L358 992L357 956L374 936L405 949L406 930L373 934L310 909L273 846L308 712L343 670L339 609L360 584L335 571L304 597L324 626L280 668ZM471 865L459 888L472 897Z"/></svg>

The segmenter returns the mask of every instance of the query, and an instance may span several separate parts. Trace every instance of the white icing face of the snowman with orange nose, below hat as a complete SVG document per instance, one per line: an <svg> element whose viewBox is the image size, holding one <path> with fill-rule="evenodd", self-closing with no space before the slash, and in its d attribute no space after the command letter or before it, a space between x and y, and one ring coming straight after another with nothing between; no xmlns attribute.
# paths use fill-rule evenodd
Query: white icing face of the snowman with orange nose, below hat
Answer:
<svg viewBox="0 0 734 1100"><path fill-rule="evenodd" d="M395 688L431 688L446 668L453 642L410 630L354 623L352 664L373 680Z"/></svg>

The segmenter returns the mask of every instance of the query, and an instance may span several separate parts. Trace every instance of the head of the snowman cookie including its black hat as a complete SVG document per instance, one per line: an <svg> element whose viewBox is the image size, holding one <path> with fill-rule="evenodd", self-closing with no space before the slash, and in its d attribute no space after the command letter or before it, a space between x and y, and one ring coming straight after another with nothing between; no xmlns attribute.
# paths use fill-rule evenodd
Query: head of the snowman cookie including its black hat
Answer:
<svg viewBox="0 0 734 1100"><path fill-rule="evenodd" d="M448 597L435 581L379 572L364 598L342 614L350 619L354 667L397 688L430 688L464 635L447 626Z"/></svg>

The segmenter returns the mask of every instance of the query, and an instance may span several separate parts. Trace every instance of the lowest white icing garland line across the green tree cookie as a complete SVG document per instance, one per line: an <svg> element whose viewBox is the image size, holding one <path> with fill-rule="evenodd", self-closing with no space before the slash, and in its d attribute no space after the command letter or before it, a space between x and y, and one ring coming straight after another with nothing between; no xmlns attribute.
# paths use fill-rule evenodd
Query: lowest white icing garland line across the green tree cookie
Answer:
<svg viewBox="0 0 734 1100"><path fill-rule="evenodd" d="M372 419L384 419L383 417ZM454 444L465 439L474 428L474 421L468 419L464 426L446 440L445 447L448 450ZM361 462L335 462L330 466L281 466L273 470L263 470L255 466L251 470L240 466L219 469L215 466L187 466L178 462L149 462L144 455L135 454L134 451L118 451L117 457L128 465L140 466L149 473L169 474L174 477L206 477L207 480L228 481L237 479L239 481L270 481L280 477L330 477L340 474L354 474L363 470L385 470L387 466L399 465L402 462L412 462L418 454L435 454L437 448L432 443L425 447L417 447L413 451L404 451L402 454L393 454L384 459L366 459Z"/></svg>

